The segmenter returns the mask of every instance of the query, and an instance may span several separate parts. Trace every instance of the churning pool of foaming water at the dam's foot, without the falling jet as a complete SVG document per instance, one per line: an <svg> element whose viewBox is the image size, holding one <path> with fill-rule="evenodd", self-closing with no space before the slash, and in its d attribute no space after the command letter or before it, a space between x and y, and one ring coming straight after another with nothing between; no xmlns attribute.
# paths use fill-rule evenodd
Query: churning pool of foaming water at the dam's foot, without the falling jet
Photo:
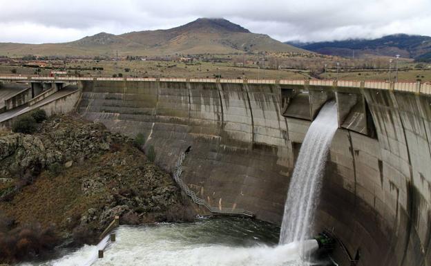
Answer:
<svg viewBox="0 0 431 266"><path fill-rule="evenodd" d="M97 259L97 247L30 265L297 266L301 245L277 245L279 228L255 220L215 218L184 224L158 224L117 230L117 241ZM315 240L303 243L317 248Z"/></svg>

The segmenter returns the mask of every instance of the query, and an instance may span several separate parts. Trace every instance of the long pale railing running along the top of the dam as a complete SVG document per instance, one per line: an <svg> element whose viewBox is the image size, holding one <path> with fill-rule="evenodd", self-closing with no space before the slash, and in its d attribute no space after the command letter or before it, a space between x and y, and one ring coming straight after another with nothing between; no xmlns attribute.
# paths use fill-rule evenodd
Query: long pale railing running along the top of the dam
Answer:
<svg viewBox="0 0 431 266"><path fill-rule="evenodd" d="M200 79L200 78L166 78L166 77L44 77L1 75L0 80L26 82L77 82L77 81L112 81L112 82L206 82L234 84L283 84L302 86L340 86L351 88L376 88L381 90L407 91L412 93L431 94L429 82L380 82L333 79Z"/></svg>

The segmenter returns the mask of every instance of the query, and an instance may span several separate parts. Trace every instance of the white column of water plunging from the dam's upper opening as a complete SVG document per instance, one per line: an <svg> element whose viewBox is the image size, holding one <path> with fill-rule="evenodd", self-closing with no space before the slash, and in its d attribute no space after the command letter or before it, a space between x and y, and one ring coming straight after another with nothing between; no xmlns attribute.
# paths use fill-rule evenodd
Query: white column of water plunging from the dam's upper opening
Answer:
<svg viewBox="0 0 431 266"><path fill-rule="evenodd" d="M336 103L327 102L309 127L300 148L287 193L280 244L302 242L311 237L329 145L337 128Z"/></svg>

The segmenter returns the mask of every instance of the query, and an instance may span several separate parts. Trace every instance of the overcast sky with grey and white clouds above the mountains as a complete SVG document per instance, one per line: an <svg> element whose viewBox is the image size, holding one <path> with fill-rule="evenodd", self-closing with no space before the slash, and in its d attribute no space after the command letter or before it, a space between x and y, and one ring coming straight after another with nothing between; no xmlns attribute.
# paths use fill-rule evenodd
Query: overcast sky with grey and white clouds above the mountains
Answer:
<svg viewBox="0 0 431 266"><path fill-rule="evenodd" d="M73 41L224 17L280 41L431 36L431 0L0 0L0 42Z"/></svg>

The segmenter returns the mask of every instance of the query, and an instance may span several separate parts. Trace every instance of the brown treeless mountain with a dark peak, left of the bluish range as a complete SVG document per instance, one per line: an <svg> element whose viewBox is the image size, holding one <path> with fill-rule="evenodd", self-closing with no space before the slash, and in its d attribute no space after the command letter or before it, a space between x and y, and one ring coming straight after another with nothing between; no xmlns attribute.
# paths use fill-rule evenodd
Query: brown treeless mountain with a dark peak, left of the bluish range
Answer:
<svg viewBox="0 0 431 266"><path fill-rule="evenodd" d="M173 55L202 53L309 53L252 33L227 19L197 19L168 30L106 32L62 44L0 43L0 55Z"/></svg>

